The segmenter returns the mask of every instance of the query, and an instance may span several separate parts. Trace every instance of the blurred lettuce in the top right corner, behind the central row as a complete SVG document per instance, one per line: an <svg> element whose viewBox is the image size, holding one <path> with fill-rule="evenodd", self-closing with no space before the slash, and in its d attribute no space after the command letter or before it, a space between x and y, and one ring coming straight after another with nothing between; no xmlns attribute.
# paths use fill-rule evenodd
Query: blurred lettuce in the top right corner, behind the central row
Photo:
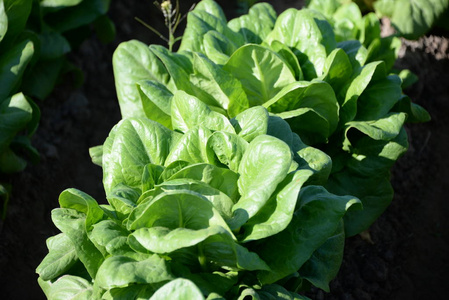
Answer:
<svg viewBox="0 0 449 300"><path fill-rule="evenodd" d="M360 41L367 49L367 60L365 63L379 60L384 61L387 70L391 70L391 72L399 75L402 79L402 88L405 89L415 83L418 80L418 77L409 70L395 70L393 68L401 47L401 40L399 39L399 36L418 38L430 28L430 25L427 29L416 29L413 32L409 29L408 34L406 33L407 31L404 31L404 29L399 30L396 28L399 30L398 33L382 37L378 16L388 16L392 19L393 25L396 26L397 21L392 18L392 15L389 15L387 12L383 12L383 10L393 9L395 5L397 5L396 8L394 8L394 11L397 12L395 13L397 17L400 16L403 19L399 22L400 24L408 21L412 21L414 23L416 18L419 19L416 22L423 23L429 18L432 19L432 14L423 13L423 10L429 10L430 6L433 7L433 4L429 6L429 3L427 2L426 4L423 3L422 5L417 5L416 3L418 2L410 1L374 1L373 3L369 3L370 7L368 8L368 11L373 11L373 9L375 9L375 13L368 12L362 16L363 7L367 3L368 2L361 1L353 2L351 0L310 0L308 1L307 7L319 11L326 17L327 21L334 29L335 39L342 47L344 47L344 45L351 40ZM438 5L435 5L431 11L434 9L436 14L441 15L441 12L437 11L442 11L442 7L447 8L447 4L444 6L443 3L439 3ZM412 10L413 13L410 13L410 10ZM410 15L412 15L412 17L410 17ZM432 19L432 21L429 20L428 23L434 23L434 19ZM403 26L412 25L404 24ZM426 27L425 25L423 26Z"/></svg>

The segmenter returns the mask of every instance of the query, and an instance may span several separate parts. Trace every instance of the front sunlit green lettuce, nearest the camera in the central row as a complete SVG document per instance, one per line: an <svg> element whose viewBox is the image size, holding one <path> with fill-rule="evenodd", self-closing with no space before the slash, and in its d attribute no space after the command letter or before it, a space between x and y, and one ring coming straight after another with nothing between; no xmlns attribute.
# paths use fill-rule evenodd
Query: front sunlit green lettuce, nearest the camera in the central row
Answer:
<svg viewBox="0 0 449 300"><path fill-rule="evenodd" d="M229 120L177 91L171 126L127 118L92 150L109 204L61 194L62 233L37 268L47 297L305 299L305 280L328 290L342 217L360 206L321 185L330 158L261 106Z"/></svg>

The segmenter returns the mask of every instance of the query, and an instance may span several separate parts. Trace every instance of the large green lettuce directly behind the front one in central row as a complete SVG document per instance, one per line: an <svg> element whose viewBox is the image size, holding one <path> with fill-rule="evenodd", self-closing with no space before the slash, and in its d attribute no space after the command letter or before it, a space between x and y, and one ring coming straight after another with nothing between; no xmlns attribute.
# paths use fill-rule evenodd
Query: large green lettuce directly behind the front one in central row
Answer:
<svg viewBox="0 0 449 300"><path fill-rule="evenodd" d="M316 10L288 9L277 17L260 3L227 22L214 1L204 0L187 20L178 52L138 41L117 48L123 117L172 128L170 103L178 90L228 118L262 105L332 158L324 186L364 206L348 212L346 233L367 229L392 200L390 168L408 147L403 124L429 119L402 93L400 77L389 74L385 61L370 61L360 40L338 43Z"/></svg>

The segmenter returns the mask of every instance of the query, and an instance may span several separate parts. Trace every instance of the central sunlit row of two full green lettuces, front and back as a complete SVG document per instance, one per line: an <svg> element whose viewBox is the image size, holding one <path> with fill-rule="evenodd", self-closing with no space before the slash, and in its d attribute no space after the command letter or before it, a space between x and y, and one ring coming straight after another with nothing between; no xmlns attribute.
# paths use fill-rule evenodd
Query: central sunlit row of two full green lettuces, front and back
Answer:
<svg viewBox="0 0 449 300"><path fill-rule="evenodd" d="M91 149L109 204L61 194L49 299L306 299L392 199L403 124L429 116L385 62L316 10L187 21L177 52L114 53L123 120Z"/></svg>

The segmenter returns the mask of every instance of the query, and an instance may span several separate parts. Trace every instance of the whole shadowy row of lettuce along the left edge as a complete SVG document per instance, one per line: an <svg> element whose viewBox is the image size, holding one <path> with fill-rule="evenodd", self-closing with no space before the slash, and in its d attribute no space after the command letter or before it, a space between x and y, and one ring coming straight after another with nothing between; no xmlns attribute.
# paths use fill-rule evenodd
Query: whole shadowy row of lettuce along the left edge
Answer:
<svg viewBox="0 0 449 300"><path fill-rule="evenodd" d="M40 112L30 97L45 99L73 69L65 55L90 34L91 23L105 41L113 36L109 1L0 0L0 175L39 160L30 139ZM8 194L0 184L0 197Z"/></svg>

